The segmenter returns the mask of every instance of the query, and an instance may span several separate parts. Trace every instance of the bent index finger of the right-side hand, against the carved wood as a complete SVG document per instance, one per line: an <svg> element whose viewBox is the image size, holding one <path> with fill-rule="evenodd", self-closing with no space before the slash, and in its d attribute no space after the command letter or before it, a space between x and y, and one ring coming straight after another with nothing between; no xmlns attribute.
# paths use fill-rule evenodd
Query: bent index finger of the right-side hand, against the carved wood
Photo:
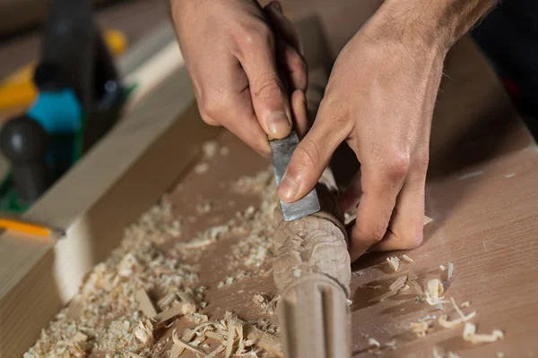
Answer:
<svg viewBox="0 0 538 358"><path fill-rule="evenodd" d="M362 196L357 208L357 221L351 231L352 261L385 236L395 209L396 197L407 173L408 166L404 160L388 161L390 166L387 169L364 165L360 167Z"/></svg>

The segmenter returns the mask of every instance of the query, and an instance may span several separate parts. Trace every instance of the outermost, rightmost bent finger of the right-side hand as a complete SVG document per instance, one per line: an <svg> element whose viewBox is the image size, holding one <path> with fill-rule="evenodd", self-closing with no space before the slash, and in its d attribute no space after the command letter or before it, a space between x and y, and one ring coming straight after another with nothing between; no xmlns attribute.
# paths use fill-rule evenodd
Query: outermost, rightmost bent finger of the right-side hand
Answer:
<svg viewBox="0 0 538 358"><path fill-rule="evenodd" d="M421 171L416 179L406 178L404 187L396 200L389 230L371 251L410 250L421 245L424 223L424 192L426 174Z"/></svg>

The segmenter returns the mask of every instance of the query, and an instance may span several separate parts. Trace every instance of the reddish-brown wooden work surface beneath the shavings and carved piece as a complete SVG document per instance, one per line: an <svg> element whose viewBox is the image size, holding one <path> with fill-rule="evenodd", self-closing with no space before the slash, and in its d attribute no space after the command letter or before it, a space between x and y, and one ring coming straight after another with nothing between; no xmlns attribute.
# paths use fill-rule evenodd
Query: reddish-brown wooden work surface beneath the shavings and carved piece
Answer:
<svg viewBox="0 0 538 358"><path fill-rule="evenodd" d="M427 337L414 337L410 323L442 312L417 303L413 292L369 303L384 291L361 287L386 276L390 272L386 257L403 252L369 253L353 266L353 356L371 356L366 335L381 343L396 340L395 351L381 350L386 357L430 357L434 345L464 357L496 357L499 352L506 357L534 356L538 354L533 333L538 320L538 150L468 38L448 56L442 89L427 184L427 214L434 221L426 226L422 246L407 252L415 262L404 263L400 269L412 269L421 286L428 279L442 279L447 297L454 297L457 303L469 301L471 307L466 311L477 311L473 322L479 333L499 328L505 338L471 345L462 338L463 325L444 329L435 324ZM206 173L189 172L171 193L182 216L193 215L195 207L208 200L212 203L211 212L197 217L187 236L226 222L247 205L256 206L256 198L234 195L226 188L241 175L255 175L269 162L228 132L219 141L230 148L230 155L205 160L209 164ZM200 260L200 281L209 287L204 313L211 316L234 311L245 320L255 319L260 309L252 296L275 293L271 276L216 287L222 277L233 274L226 257L239 240L213 244ZM455 275L447 280L439 265L449 261L455 265ZM449 318L456 318L449 305L445 306Z"/></svg>

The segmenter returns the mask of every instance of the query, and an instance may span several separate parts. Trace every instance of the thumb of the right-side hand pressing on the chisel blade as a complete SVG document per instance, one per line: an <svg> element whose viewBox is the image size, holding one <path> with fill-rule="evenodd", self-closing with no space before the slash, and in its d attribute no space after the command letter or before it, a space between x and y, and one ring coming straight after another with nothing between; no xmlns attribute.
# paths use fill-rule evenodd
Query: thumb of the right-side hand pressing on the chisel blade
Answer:
<svg viewBox="0 0 538 358"><path fill-rule="evenodd" d="M277 194L282 201L305 196L321 177L334 150L351 132L349 121L342 119L331 105L322 101L317 120L291 156ZM342 113L342 112L341 112Z"/></svg>

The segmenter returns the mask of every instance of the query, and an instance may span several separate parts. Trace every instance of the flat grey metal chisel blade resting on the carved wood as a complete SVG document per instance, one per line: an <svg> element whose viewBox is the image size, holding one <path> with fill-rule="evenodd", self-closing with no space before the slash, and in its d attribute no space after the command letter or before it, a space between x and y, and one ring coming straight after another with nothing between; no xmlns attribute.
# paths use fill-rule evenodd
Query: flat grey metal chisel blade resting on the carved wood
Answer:
<svg viewBox="0 0 538 358"><path fill-rule="evenodd" d="M299 138L295 131L286 138L271 140L271 154L273 156L273 169L276 185L282 180L282 176L290 164L291 155L299 145ZM306 217L319 211L319 200L317 200L316 188L308 192L301 199L293 202L283 202L281 200L282 214L284 220L291 221L297 218Z"/></svg>

